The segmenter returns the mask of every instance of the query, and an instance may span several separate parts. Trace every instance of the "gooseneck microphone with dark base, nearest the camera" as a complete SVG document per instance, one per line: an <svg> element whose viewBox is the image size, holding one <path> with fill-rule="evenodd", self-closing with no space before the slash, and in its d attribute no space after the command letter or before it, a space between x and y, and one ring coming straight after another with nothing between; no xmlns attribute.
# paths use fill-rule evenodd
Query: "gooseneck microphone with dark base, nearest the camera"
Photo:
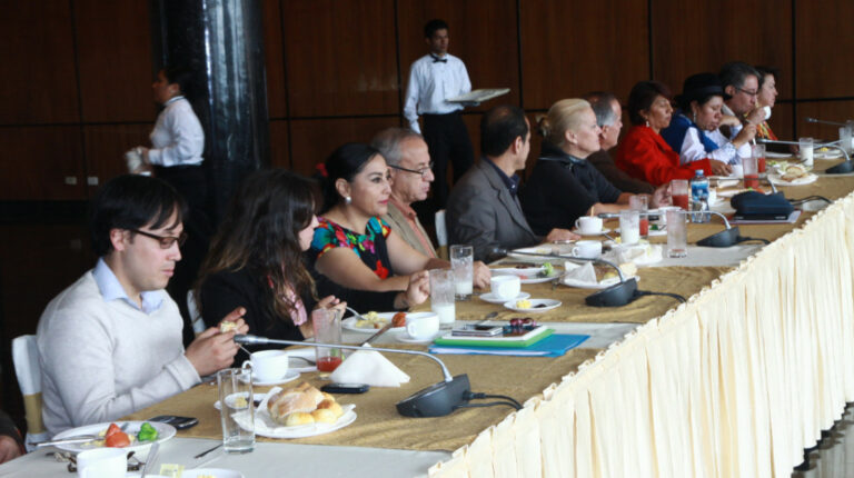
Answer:
<svg viewBox="0 0 854 478"><path fill-rule="evenodd" d="M367 350L367 351L381 351L388 353L405 353L427 357L434 360L441 367L441 374L445 377L444 381L434 384L425 389L417 391L415 395L407 397L397 402L397 411L404 417L444 417L451 414L457 408L460 408L471 398L471 386L468 382L468 376L460 374L456 377L451 377L448 368L445 366L438 357L434 357L430 353L421 352L417 350L398 350L380 347L360 347L360 346L347 346L340 343L322 343L322 342L305 342L299 340L282 340L270 339L267 337L258 337L250 335L236 335L235 342L249 346L255 345L284 345L284 346L305 346L310 345L314 347L328 347L347 350Z"/></svg>

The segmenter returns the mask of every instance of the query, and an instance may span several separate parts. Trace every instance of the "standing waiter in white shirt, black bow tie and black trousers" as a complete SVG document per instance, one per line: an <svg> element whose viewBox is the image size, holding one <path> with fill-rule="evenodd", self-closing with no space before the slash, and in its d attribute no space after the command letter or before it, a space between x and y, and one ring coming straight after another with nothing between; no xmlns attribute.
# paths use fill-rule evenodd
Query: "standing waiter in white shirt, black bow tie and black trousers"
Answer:
<svg viewBox="0 0 854 478"><path fill-rule="evenodd" d="M423 133L427 141L435 161L434 202L441 209L449 190L448 161L454 165L455 182L474 163L471 140L459 114L463 104L445 100L471 91L471 81L463 60L448 53L448 24L444 20L428 21L424 37L430 51L409 70L404 116L413 131ZM424 117L424 131L418 126L418 114Z"/></svg>

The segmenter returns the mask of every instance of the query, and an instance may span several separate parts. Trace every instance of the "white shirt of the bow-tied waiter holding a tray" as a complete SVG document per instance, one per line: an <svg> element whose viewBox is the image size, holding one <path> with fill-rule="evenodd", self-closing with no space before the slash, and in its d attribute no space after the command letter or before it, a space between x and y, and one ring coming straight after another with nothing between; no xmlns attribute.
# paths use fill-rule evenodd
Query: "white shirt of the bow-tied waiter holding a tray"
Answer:
<svg viewBox="0 0 854 478"><path fill-rule="evenodd" d="M404 117L417 133L421 132L418 114L446 114L461 110L461 104L445 100L471 91L471 81L463 60L453 54L445 54L441 60L447 61L435 62L433 56L426 54L409 69Z"/></svg>

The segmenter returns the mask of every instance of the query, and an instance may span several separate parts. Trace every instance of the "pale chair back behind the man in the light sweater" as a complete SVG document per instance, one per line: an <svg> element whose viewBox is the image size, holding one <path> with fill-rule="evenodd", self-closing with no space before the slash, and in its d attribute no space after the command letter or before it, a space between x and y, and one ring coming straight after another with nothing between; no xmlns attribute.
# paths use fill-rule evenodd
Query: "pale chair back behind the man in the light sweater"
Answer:
<svg viewBox="0 0 854 478"><path fill-rule="evenodd" d="M36 336L20 336L12 340L12 362L18 386L23 396L23 409L27 416L27 451L34 447L30 442L49 438L44 421L41 418L41 365Z"/></svg>

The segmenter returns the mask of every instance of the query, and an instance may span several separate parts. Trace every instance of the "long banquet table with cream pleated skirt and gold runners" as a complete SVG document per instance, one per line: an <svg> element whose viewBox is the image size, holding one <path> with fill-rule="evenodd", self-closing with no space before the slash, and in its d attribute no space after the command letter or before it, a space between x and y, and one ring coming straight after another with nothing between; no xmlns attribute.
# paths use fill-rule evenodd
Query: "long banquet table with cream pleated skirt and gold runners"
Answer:
<svg viewBox="0 0 854 478"><path fill-rule="evenodd" d="M817 169L827 166L816 162ZM286 445L261 438L255 454L225 462L246 461L255 470L248 477L269 476L271 468L259 462L275 461L277 454L287 475L296 469L285 457L325 452L330 461L385 462L399 476L788 476L803 449L854 400L852 189L852 175L783 188L788 198L820 193L835 202L795 225L742 226L743 235L773 242L719 251L717 265L640 268L642 289L689 297L678 307L665 297L643 297L620 308L590 308L584 305L589 291L524 286L534 297L564 302L537 317L558 329L629 331L559 358L441 356L453 374L468 374L473 390L524 401L519 411L400 417L394 404L440 375L429 360L389 355L411 382L342 398L356 404L359 417L351 426ZM688 240L721 228L691 225ZM498 310L478 300L458 302L457 317L476 320ZM504 311L496 320L510 316L517 315ZM312 374L302 378L322 382ZM215 400L216 387L202 385L127 418L199 417L197 427L173 440L177 460L177 449L203 449L220 437ZM9 469L16 468L0 466L0 475Z"/></svg>

